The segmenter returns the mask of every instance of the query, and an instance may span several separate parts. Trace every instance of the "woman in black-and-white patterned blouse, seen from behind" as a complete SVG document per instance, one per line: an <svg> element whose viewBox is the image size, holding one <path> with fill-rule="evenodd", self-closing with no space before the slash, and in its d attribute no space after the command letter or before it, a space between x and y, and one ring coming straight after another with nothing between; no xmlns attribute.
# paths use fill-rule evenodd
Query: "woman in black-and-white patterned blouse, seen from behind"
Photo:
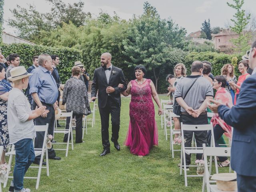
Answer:
<svg viewBox="0 0 256 192"><path fill-rule="evenodd" d="M62 105L66 103L66 111L73 111L76 118L76 143L82 143L82 118L83 115L91 114L88 101L88 92L84 82L80 78L81 69L78 66L72 68L72 78L67 80L62 96ZM66 120L66 129L69 128L70 118ZM64 136L64 142L68 141L68 134Z"/></svg>

